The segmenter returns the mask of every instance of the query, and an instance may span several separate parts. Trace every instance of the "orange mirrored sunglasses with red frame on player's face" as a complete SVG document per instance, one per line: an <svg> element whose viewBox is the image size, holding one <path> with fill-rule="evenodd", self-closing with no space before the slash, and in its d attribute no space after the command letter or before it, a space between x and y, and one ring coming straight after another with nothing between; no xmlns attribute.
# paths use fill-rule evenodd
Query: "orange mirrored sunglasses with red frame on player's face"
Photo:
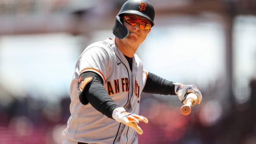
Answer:
<svg viewBox="0 0 256 144"><path fill-rule="evenodd" d="M151 28L151 24L145 20L141 20L133 16L124 16L123 18L132 26L135 26L137 23L139 23L140 28L143 30L149 30Z"/></svg>

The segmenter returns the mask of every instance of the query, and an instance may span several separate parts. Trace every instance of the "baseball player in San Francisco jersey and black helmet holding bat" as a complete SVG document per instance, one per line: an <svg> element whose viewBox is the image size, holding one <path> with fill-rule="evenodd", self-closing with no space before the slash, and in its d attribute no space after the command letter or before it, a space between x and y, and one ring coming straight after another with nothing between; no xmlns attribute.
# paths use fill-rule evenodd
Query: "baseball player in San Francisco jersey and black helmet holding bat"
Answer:
<svg viewBox="0 0 256 144"><path fill-rule="evenodd" d="M202 95L147 70L135 54L154 26L155 11L147 0L128 0L115 18L114 38L95 42L80 55L70 85L70 118L63 144L136 144L142 134L138 115L141 92ZM184 103L185 104L185 103Z"/></svg>

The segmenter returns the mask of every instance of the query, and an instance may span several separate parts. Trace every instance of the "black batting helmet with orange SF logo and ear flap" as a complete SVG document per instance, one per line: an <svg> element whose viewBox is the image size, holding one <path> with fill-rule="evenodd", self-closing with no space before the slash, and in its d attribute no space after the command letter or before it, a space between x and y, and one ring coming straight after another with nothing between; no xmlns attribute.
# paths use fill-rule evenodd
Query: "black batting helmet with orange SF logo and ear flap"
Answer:
<svg viewBox="0 0 256 144"><path fill-rule="evenodd" d="M119 39L123 39L129 35L129 30L122 24L120 16L122 14L136 14L147 18L152 27L154 26L155 10L147 0L128 0L125 2L116 16L113 34Z"/></svg>

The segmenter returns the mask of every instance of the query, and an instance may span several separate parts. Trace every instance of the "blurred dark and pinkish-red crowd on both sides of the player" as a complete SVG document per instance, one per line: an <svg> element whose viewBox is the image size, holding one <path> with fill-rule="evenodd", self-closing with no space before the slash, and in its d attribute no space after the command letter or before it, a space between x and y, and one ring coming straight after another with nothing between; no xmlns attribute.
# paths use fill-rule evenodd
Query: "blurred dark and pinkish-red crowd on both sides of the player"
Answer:
<svg viewBox="0 0 256 144"><path fill-rule="evenodd" d="M180 113L175 104L159 95L142 94L140 114L149 123L140 123L144 133L140 144L255 144L256 80L250 83L250 100L237 109L230 99L227 114L220 103L202 101L191 114ZM163 96L164 97L164 96ZM173 96L171 96L173 97ZM60 144L61 133L70 116L69 96L58 102L45 102L31 96L0 104L1 144ZM168 98L167 98L168 99Z"/></svg>

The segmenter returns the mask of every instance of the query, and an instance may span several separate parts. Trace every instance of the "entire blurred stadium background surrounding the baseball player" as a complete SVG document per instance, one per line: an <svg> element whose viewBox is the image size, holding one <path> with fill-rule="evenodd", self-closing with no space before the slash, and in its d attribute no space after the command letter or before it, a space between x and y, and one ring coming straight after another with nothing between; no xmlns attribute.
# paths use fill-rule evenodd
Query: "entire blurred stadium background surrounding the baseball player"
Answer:
<svg viewBox="0 0 256 144"><path fill-rule="evenodd" d="M126 0L0 0L0 143L60 144L75 63L113 37ZM140 144L256 143L256 1L149 0L155 26L137 54L203 94L188 116L176 96L142 94Z"/></svg>

